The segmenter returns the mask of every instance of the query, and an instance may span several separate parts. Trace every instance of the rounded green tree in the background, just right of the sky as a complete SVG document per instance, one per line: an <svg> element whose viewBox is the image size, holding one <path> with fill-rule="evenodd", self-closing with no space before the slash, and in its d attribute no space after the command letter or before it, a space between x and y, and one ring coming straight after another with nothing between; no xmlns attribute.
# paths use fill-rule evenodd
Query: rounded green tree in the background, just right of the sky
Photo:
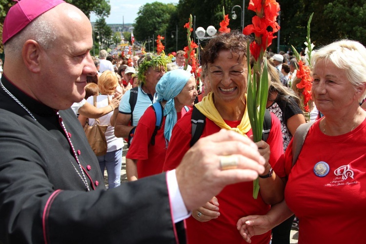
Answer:
<svg viewBox="0 0 366 244"><path fill-rule="evenodd" d="M144 41L154 36L156 41L158 35L170 35L167 27L171 15L176 11L174 4L161 2L146 3L139 9L133 34L138 41ZM155 42L154 42L155 43Z"/></svg>

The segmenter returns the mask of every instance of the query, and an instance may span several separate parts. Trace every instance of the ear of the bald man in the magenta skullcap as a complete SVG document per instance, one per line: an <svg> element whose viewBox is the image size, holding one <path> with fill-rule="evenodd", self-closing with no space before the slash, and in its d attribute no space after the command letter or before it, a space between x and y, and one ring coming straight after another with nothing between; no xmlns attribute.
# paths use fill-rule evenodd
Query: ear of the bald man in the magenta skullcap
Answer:
<svg viewBox="0 0 366 244"><path fill-rule="evenodd" d="M24 42L21 55L25 66L32 73L39 73L41 71L40 54L41 46L37 41L27 40Z"/></svg>

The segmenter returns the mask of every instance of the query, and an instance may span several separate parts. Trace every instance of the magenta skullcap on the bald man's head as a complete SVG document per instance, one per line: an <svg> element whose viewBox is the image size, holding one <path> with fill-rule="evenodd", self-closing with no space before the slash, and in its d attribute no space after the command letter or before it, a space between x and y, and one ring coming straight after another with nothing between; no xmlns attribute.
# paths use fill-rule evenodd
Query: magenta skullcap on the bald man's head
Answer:
<svg viewBox="0 0 366 244"><path fill-rule="evenodd" d="M20 0L9 9L2 29L2 44L18 34L32 20L51 8L65 2L63 0Z"/></svg>

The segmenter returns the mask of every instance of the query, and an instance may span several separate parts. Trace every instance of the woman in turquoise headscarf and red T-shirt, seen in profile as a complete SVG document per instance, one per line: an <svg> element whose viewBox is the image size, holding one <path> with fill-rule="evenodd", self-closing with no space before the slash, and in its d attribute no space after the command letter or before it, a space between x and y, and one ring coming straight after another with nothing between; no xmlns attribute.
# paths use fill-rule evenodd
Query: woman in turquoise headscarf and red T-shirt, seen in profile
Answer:
<svg viewBox="0 0 366 244"><path fill-rule="evenodd" d="M135 131L134 139L126 155L126 174L129 181L161 173L167 143L173 126L186 112L184 106L192 106L198 95L196 81L191 73L176 69L167 72L156 85L157 102L163 109L161 128L151 143L157 115L150 106L142 115Z"/></svg>

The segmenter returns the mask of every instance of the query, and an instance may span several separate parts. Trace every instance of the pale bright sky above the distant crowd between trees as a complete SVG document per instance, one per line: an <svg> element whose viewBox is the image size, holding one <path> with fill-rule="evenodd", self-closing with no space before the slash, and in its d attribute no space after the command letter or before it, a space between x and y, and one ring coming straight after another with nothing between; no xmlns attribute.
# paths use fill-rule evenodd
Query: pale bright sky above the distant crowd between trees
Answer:
<svg viewBox="0 0 366 244"><path fill-rule="evenodd" d="M163 3L178 4L179 0L109 0L111 5L111 14L105 19L107 24L122 24L124 17L124 23L134 23L137 18L137 12L139 8L146 4L159 1ZM90 15L90 21L95 22L97 17L94 14Z"/></svg>

